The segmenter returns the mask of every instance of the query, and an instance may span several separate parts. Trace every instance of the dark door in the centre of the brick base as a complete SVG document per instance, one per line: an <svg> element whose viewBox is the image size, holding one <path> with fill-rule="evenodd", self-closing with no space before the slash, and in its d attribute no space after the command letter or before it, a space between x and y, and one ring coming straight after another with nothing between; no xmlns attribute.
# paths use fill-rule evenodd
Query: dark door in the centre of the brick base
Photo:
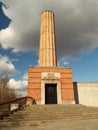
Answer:
<svg viewBox="0 0 98 130"><path fill-rule="evenodd" d="M57 84L45 84L45 104L57 104Z"/></svg>

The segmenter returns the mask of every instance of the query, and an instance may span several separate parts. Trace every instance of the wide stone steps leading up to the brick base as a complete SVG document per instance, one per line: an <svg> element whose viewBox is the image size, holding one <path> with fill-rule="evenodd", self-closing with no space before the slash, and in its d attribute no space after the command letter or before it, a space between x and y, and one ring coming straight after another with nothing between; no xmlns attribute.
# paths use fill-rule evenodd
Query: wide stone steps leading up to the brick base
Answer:
<svg viewBox="0 0 98 130"><path fill-rule="evenodd" d="M10 130L14 126L88 119L98 119L98 108L83 105L31 105L0 120L0 130Z"/></svg>

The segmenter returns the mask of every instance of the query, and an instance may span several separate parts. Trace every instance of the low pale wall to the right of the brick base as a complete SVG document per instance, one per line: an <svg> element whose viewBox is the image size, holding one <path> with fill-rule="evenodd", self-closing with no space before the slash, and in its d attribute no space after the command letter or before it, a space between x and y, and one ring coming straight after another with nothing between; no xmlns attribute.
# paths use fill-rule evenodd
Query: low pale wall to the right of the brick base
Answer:
<svg viewBox="0 0 98 130"><path fill-rule="evenodd" d="M98 82L75 82L76 103L98 106Z"/></svg>

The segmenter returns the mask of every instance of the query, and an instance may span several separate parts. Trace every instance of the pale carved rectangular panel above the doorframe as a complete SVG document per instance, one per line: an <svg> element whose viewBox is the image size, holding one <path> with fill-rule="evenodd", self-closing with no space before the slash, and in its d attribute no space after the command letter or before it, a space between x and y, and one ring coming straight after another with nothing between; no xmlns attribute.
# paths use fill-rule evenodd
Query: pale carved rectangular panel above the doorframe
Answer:
<svg viewBox="0 0 98 130"><path fill-rule="evenodd" d="M42 79L60 79L60 73L42 72Z"/></svg>

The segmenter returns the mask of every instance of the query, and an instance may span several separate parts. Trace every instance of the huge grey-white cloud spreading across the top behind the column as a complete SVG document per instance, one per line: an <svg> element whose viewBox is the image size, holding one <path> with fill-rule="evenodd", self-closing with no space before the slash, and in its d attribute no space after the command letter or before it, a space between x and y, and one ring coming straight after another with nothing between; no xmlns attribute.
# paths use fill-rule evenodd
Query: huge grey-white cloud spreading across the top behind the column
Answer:
<svg viewBox="0 0 98 130"><path fill-rule="evenodd" d="M97 0L1 1L9 6L3 10L12 20L9 27L0 32L4 49L12 48L13 52L38 49L42 10L55 12L59 58L77 58L83 51L98 47Z"/></svg>

